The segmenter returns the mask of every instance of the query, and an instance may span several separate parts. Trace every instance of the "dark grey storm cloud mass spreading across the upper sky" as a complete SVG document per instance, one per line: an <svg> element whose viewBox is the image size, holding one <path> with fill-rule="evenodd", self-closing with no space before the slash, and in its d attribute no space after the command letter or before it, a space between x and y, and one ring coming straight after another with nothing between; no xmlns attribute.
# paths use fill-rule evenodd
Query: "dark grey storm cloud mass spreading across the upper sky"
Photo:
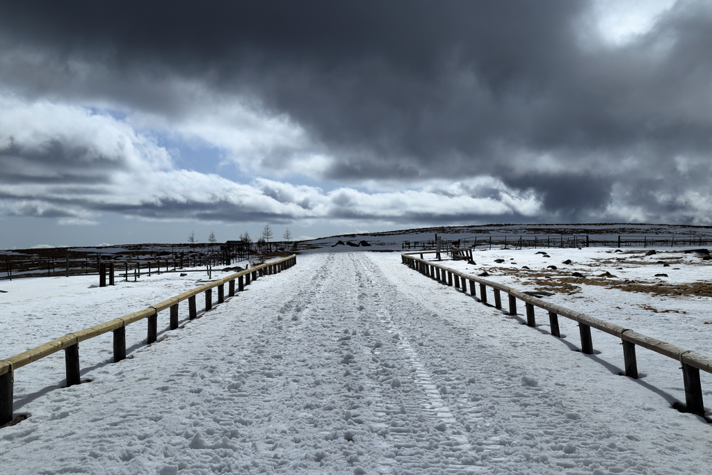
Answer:
<svg viewBox="0 0 712 475"><path fill-rule="evenodd" d="M677 161L712 152L711 9L679 4L616 47L587 31L588 11L575 0L5 2L0 46L41 59L0 80L173 119L196 105L162 84L197 80L303 127L330 156L318 179L489 174L536 192L547 216L604 216L619 187L650 215L684 214L675 198L712 177ZM268 163L288 160L282 150Z"/></svg>

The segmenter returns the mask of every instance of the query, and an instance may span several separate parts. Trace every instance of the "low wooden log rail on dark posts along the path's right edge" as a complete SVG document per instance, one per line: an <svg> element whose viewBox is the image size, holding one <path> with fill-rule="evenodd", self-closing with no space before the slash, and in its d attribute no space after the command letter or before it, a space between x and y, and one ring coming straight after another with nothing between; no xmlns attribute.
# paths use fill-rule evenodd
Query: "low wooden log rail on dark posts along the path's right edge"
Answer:
<svg viewBox="0 0 712 475"><path fill-rule="evenodd" d="M401 254L403 263L419 271L424 276L433 278L436 281L444 283L447 286L454 286L460 291L466 293L468 291L471 296L477 296L476 284L479 284L479 299L482 303L487 303L488 295L487 288L492 289L494 297L494 306L502 309L502 293L508 295L509 315L517 315L517 300L523 301L525 306L525 314L527 325L534 327L536 325L534 308L541 308L548 313L551 334L557 338L561 338L559 333L558 317L562 316L575 320L579 325L579 333L581 338L581 352L587 355L593 353L593 342L591 338L591 328L600 330L609 335L614 335L620 338L623 345L623 360L625 366L625 375L634 379L638 378L638 366L635 355L636 346L646 348L646 350L660 353L661 355L670 357L681 364L683 380L685 385L685 400L686 410L694 414L704 416L704 407L702 401L702 387L700 383L700 370L712 373L712 358L695 353L691 350L685 350L679 346L666 343L656 338L637 333L630 328L624 328L614 323L609 323L605 320L592 317L585 313L570 310L562 306L555 305L520 292L515 288L505 286L501 283L488 281L485 278L471 276L467 273L456 271L453 268L442 266L423 259L423 254L434 254L436 251L423 251L415 253ZM413 254L419 254L420 257L414 257Z"/></svg>

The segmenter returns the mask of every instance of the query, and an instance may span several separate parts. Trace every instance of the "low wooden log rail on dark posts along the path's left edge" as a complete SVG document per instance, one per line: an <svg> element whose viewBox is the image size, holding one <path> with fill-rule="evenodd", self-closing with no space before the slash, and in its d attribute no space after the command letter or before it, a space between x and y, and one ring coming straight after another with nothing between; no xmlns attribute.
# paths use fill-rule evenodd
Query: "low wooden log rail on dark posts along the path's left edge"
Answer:
<svg viewBox="0 0 712 475"><path fill-rule="evenodd" d="M91 328L85 328L75 333L68 333L60 338L56 338L48 343L39 345L31 350L23 351L17 355L11 356L0 361L0 426L11 422L13 410L13 385L14 372L25 365L29 365L33 361L40 360L43 357L56 353L59 350L65 351L66 362L66 377L67 385L76 385L80 383L79 372L79 343L94 338L104 333L113 332L114 335L114 362L119 362L126 357L126 325L136 323L140 320L147 319L147 344L154 343L157 338L158 328L157 320L158 313L162 310L170 309L169 328L175 330L178 328L178 304L179 302L188 301L189 319L197 317L196 298L200 293L205 294L205 310L210 310L213 306L212 291L217 287L218 298L217 303L223 303L225 298L225 284L228 284L228 296L235 296L236 291L243 291L244 286L249 285L251 281L257 280L258 277L271 275L294 266L296 256L288 256L277 261L263 263L259 266L248 268L244 271L231 274L230 276L219 278L216 281L206 283L204 286L192 288L189 291L183 292L175 297L169 298L166 301L157 303L156 305L139 310L128 315L124 315L114 320L105 323L100 323ZM235 288L237 282L237 290Z"/></svg>

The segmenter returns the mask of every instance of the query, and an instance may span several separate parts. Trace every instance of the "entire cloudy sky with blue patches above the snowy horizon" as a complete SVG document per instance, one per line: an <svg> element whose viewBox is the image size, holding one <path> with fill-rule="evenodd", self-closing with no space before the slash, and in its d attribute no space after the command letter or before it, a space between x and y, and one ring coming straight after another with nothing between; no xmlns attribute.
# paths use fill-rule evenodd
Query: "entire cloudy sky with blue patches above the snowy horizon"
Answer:
<svg viewBox="0 0 712 475"><path fill-rule="evenodd" d="M0 3L0 249L712 224L709 1Z"/></svg>

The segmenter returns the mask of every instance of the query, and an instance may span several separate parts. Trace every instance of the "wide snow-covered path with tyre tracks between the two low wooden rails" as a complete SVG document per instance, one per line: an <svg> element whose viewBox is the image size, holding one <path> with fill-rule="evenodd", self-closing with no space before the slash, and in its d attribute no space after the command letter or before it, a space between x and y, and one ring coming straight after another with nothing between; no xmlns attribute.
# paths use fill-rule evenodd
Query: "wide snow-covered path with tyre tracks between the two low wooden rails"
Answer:
<svg viewBox="0 0 712 475"><path fill-rule="evenodd" d="M93 382L26 404L31 417L0 430L0 465L708 473L710 425L520 321L398 254L300 256L133 358L98 366Z"/></svg>

